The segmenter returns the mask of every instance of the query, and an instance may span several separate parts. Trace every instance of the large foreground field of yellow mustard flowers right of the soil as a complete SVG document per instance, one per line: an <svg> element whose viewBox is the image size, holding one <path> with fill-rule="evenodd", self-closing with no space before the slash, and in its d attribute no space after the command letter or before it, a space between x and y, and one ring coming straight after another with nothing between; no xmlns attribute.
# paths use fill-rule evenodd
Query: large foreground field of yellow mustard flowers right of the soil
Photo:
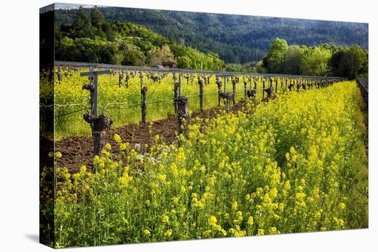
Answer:
<svg viewBox="0 0 378 252"><path fill-rule="evenodd" d="M105 93L110 84L100 82ZM64 85L57 87L58 100L87 102ZM166 90L153 85L151 95ZM350 81L283 93L213 119L192 118L188 137L178 135L173 144L156 135L142 148L114 135L118 146L107 144L94 157L96 172L85 165L74 174L55 168L55 197L46 192L41 198L42 213L54 209L55 239L49 243L78 247L367 228L365 117ZM64 125L60 130L71 132ZM112 148L119 153L111 154ZM61 155L56 152L56 159ZM51 171L43 170L41 188L51 186Z"/></svg>

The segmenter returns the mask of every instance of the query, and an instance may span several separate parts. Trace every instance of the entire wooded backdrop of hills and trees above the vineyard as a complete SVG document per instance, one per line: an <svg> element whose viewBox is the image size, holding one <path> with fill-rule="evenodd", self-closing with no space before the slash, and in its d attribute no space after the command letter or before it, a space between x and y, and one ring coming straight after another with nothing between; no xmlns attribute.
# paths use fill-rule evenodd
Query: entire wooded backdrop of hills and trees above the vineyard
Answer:
<svg viewBox="0 0 378 252"><path fill-rule="evenodd" d="M323 21L129 8L57 10L55 17L56 60L143 66L175 61L178 67L188 69L202 66L205 70L348 78L368 75L368 51L359 45L347 47L343 42L348 38L366 46L364 24L329 22L330 27L319 26L316 30L313 26ZM252 25L251 21L255 23ZM265 30L262 25L267 25ZM294 27L289 29L288 25ZM245 32L247 27L249 35ZM269 41L271 36L284 31L288 41ZM305 45L311 39L314 43L331 37L341 41L340 45ZM260 60L255 67L254 60Z"/></svg>

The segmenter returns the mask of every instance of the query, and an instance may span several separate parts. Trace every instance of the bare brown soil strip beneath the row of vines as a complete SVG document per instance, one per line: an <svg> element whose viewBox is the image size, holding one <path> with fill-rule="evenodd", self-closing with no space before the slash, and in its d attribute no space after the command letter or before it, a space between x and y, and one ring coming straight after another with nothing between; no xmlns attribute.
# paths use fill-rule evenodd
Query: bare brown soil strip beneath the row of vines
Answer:
<svg viewBox="0 0 378 252"><path fill-rule="evenodd" d="M239 111L244 107L244 102L239 102L235 106L232 106L232 111ZM192 118L212 118L216 117L220 108L210 108L203 112L192 113ZM151 144L152 137L160 135L166 139L167 142L173 142L175 135L177 134L177 118L168 117L159 121L153 122L152 132L148 132L148 123L146 125L126 125L119 128L112 128L106 134L105 142L111 144L112 151L118 152L118 144L115 143L113 137L117 133L122 138L123 142L129 142L130 144ZM59 167L67 167L71 172L77 172L81 165L87 165L87 168L92 166L93 158L93 142L91 137L69 137L63 138L55 143L56 151L63 154L63 157L58 159L57 165ZM41 148L41 147L40 147ZM41 149L42 151L42 149ZM45 151L41 152L41 155L47 155ZM47 159L48 160L48 159ZM51 162L49 162L51 163ZM41 166L44 164L41 162Z"/></svg>

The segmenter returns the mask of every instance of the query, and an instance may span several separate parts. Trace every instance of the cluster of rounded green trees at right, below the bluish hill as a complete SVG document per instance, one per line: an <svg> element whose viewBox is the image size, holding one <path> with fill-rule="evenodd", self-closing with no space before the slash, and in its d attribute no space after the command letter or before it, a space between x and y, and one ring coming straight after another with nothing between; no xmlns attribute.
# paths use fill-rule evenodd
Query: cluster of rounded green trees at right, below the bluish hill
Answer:
<svg viewBox="0 0 378 252"><path fill-rule="evenodd" d="M368 51L359 45L289 46L285 39L276 38L271 43L267 56L256 65L256 70L263 73L340 76L354 79L357 76L368 76Z"/></svg>

